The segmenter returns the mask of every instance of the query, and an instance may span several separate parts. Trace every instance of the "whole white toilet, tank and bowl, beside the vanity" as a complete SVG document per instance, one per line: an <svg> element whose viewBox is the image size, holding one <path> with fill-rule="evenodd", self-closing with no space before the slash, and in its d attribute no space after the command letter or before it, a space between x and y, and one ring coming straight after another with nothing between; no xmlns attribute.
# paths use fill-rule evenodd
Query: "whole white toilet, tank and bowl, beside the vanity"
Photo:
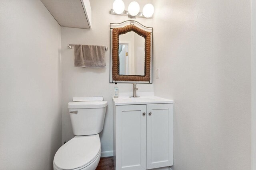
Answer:
<svg viewBox="0 0 256 170"><path fill-rule="evenodd" d="M69 102L75 137L56 152L54 170L95 170L101 156L99 133L103 129L106 101Z"/></svg>

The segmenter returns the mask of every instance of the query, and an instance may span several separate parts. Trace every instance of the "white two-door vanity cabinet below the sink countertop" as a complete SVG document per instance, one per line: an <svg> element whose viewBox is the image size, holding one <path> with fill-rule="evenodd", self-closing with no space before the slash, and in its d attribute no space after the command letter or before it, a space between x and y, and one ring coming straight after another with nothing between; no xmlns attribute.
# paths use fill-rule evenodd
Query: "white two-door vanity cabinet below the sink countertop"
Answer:
<svg viewBox="0 0 256 170"><path fill-rule="evenodd" d="M116 170L168 170L173 165L173 103L114 102L114 164Z"/></svg>

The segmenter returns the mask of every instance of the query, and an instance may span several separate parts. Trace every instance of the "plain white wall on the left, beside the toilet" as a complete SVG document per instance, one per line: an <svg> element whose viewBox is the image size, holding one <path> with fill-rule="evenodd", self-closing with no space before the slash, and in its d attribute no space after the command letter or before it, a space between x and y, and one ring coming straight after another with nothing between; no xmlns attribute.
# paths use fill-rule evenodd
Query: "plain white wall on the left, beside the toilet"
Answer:
<svg viewBox="0 0 256 170"><path fill-rule="evenodd" d="M0 169L52 169L61 146L61 27L40 0L0 1Z"/></svg>

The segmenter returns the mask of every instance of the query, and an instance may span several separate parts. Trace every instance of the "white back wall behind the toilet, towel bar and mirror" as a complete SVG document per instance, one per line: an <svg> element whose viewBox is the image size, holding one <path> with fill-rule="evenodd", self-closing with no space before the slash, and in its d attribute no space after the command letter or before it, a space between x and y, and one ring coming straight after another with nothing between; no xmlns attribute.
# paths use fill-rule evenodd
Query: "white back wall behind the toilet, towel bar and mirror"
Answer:
<svg viewBox="0 0 256 170"><path fill-rule="evenodd" d="M124 0L126 8L132 0ZM141 6L152 0L141 0ZM73 96L104 96L108 101L104 129L100 133L103 156L112 155L113 150L113 109L112 92L114 84L109 83L109 53L110 53L110 22L118 23L129 20L127 16L110 15L113 0L92 0L92 29L76 29L62 27L62 143L74 137L68 102ZM146 26L152 26L152 20L137 18ZM106 68L74 67L74 50L67 49L70 44L106 45ZM132 92L132 84L118 84L120 92ZM138 84L139 92L152 92L152 84Z"/></svg>

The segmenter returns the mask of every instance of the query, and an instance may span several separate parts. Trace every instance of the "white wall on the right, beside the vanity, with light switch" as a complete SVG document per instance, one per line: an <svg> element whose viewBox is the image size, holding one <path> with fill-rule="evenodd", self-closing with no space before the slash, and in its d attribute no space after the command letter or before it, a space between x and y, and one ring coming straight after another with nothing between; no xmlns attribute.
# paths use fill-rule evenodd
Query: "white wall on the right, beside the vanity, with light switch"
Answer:
<svg viewBox="0 0 256 170"><path fill-rule="evenodd" d="M153 4L154 91L174 100L172 170L250 170L250 0Z"/></svg>

